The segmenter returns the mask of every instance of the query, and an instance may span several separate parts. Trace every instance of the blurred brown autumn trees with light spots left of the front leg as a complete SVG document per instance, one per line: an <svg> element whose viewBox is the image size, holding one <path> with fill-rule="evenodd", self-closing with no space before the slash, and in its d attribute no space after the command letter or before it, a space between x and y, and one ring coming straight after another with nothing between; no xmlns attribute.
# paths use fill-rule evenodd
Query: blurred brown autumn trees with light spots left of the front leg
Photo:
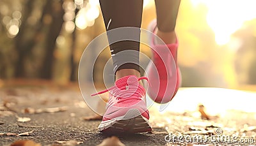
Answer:
<svg viewBox="0 0 256 146"><path fill-rule="evenodd" d="M102 22L93 26L95 18L86 24L93 26L90 29L81 18L75 29L77 16L89 7L95 8L89 1L0 1L0 77L54 79L61 84L77 80L84 48L104 31Z"/></svg>

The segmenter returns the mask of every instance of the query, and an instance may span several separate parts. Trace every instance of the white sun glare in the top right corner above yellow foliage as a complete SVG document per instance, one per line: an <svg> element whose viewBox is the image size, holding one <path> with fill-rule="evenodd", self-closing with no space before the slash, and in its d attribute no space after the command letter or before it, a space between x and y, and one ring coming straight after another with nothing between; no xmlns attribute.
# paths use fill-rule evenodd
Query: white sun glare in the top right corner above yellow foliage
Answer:
<svg viewBox="0 0 256 146"><path fill-rule="evenodd" d="M191 3L207 6L207 23L214 31L218 45L227 44L230 36L243 27L245 21L256 18L255 0L191 0Z"/></svg>

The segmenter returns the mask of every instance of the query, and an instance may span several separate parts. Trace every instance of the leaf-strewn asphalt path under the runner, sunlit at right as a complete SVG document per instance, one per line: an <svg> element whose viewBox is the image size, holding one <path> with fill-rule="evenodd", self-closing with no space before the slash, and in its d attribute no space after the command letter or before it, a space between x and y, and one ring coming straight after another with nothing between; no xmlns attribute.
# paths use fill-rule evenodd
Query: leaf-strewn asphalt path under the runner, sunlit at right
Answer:
<svg viewBox="0 0 256 146"><path fill-rule="evenodd" d="M243 99L239 100L235 95L243 96L240 97ZM242 145L256 145L255 95L255 93L223 89L181 89L168 106L168 112L159 113L156 105L150 108L153 133L117 136L125 145L192 145L192 138L195 141L195 135L208 137L208 140L194 142L200 145L212 142L220 145L235 145L224 140L218 142L212 139L217 136L233 135L237 136L237 141L247 141ZM198 110L199 103L205 108L200 106ZM235 110L229 110L230 108ZM0 88L0 135L2 135L0 145L10 145L16 140L25 139L41 145L53 145L58 141L68 140L83 142L79 145L98 145L109 135L102 135L97 131L100 120L84 120L84 117L90 115L94 113L86 106L76 87L38 85L2 87ZM18 121L28 120L24 117L30 120ZM23 134L8 136L10 133ZM181 135L184 136L180 139L182 143L174 142L177 136ZM176 136L176 139L173 136Z"/></svg>

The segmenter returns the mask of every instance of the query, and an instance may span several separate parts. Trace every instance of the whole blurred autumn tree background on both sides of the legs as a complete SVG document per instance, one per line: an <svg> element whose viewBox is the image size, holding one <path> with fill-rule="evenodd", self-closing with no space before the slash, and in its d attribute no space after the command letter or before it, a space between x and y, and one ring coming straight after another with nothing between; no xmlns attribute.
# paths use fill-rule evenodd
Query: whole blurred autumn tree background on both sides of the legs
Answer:
<svg viewBox="0 0 256 146"><path fill-rule="evenodd" d="M143 29L156 17L153 1L146 2ZM182 85L239 88L256 84L255 18L244 22L228 43L218 45L207 11L204 4L180 4L176 31ZM103 23L97 0L1 0L0 78L46 78L60 84L77 80L81 54L104 33ZM145 45L141 52L150 56ZM95 82L102 83L110 57L108 48L100 54Z"/></svg>

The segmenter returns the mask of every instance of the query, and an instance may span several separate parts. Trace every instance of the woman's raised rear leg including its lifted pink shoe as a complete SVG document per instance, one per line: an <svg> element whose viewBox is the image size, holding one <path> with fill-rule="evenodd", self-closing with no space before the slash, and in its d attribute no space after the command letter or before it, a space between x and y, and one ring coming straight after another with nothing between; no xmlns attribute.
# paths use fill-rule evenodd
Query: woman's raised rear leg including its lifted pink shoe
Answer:
<svg viewBox="0 0 256 146"><path fill-rule="evenodd" d="M181 79L179 66L177 66L178 41L175 34L177 14L180 0L155 0L157 22L150 23L150 31L164 41L152 41L153 62L148 64L147 75L151 86L148 86L148 96L157 103L168 103L179 89ZM166 53L167 48L170 54ZM168 50L168 51L169 51ZM170 59L174 59L174 62ZM154 69L154 65L156 69ZM173 72L176 75L173 75ZM161 78L157 78L156 75Z"/></svg>

